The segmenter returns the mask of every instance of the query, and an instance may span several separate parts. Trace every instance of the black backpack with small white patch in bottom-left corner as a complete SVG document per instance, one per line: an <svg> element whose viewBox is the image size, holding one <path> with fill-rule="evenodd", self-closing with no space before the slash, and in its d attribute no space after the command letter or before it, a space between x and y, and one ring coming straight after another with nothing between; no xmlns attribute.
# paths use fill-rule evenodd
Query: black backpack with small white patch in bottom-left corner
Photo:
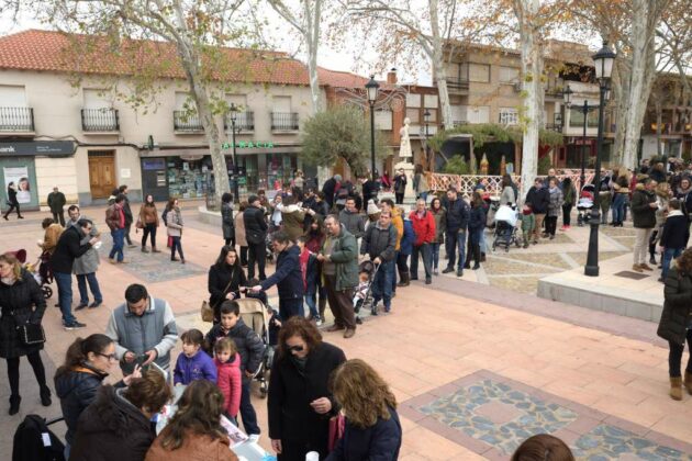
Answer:
<svg viewBox="0 0 692 461"><path fill-rule="evenodd" d="M27 415L14 432L12 461L65 461L65 446L48 429L48 425L63 420Z"/></svg>

